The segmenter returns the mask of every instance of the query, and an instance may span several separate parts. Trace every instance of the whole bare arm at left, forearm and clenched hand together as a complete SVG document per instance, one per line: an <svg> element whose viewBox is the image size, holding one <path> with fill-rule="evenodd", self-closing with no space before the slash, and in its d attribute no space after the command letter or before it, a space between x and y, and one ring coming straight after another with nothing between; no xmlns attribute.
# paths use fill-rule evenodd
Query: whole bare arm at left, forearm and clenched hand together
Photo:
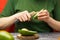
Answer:
<svg viewBox="0 0 60 40"><path fill-rule="evenodd" d="M16 13L10 17L0 18L0 28L5 28L13 24L17 19L21 22L29 21L31 18L28 11Z"/></svg>

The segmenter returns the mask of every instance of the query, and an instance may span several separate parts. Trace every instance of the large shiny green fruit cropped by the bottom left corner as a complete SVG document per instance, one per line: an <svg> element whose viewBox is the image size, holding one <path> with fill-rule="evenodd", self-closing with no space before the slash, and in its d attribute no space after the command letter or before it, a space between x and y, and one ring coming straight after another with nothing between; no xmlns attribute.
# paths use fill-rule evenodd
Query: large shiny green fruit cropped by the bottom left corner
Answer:
<svg viewBox="0 0 60 40"><path fill-rule="evenodd" d="M10 33L6 31L0 31L0 40L14 40L14 38Z"/></svg>

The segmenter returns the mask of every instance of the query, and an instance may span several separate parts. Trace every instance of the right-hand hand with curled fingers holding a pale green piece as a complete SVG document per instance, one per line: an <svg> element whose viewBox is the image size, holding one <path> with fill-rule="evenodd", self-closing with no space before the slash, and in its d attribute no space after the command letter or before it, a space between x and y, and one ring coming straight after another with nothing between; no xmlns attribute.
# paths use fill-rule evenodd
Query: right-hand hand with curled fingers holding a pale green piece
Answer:
<svg viewBox="0 0 60 40"><path fill-rule="evenodd" d="M38 12L38 20L41 21L48 21L48 19L50 18L49 12L47 10L41 10L40 12Z"/></svg>

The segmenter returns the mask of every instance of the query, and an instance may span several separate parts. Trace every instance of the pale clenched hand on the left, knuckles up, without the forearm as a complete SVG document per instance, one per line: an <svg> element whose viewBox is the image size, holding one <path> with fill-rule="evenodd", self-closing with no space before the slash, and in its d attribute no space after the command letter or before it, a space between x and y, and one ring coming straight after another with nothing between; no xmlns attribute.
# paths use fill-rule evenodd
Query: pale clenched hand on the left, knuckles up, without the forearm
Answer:
<svg viewBox="0 0 60 40"><path fill-rule="evenodd" d="M15 14L15 17L20 20L21 22L29 21L31 16L28 11L23 11Z"/></svg>

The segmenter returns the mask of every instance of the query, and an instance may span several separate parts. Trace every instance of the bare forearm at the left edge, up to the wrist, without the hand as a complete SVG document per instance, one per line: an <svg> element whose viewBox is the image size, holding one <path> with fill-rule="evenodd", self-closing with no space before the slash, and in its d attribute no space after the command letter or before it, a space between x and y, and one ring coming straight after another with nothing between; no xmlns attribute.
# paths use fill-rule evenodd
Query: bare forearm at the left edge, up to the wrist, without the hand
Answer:
<svg viewBox="0 0 60 40"><path fill-rule="evenodd" d="M12 25L17 19L14 16L0 18L0 29Z"/></svg>

